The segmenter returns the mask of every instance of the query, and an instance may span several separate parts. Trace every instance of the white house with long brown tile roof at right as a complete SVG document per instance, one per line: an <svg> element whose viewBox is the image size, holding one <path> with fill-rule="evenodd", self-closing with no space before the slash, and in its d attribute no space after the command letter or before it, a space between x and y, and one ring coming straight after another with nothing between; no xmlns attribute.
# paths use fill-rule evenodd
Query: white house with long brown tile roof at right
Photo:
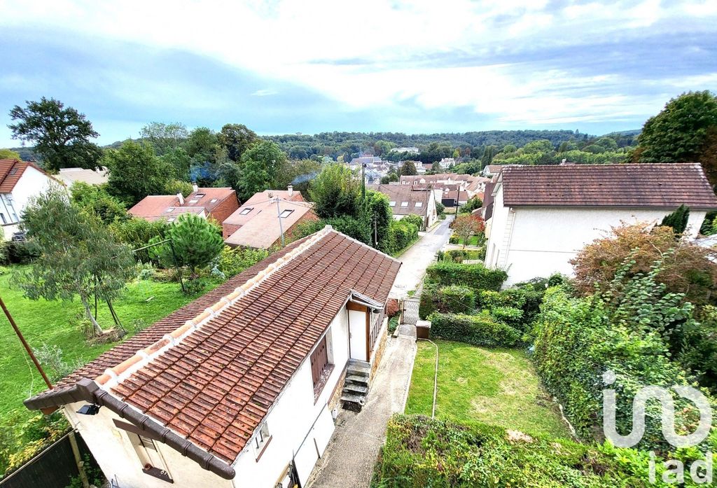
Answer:
<svg viewBox="0 0 717 488"><path fill-rule="evenodd" d="M698 163L503 168L492 195L485 264L505 269L506 285L571 274L569 260L622 222L659 224L685 204L693 237L717 209Z"/></svg>

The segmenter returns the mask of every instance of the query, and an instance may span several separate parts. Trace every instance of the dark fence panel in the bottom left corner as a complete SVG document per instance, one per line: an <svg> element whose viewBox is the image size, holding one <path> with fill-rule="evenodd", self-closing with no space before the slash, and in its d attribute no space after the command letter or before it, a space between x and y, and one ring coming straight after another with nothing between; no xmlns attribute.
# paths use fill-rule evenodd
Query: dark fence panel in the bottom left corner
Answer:
<svg viewBox="0 0 717 488"><path fill-rule="evenodd" d="M72 453L70 434L68 432L58 441L49 446L34 458L30 459L17 471L0 480L2 488L65 488L70 484L70 479L80 474L75 461L75 454ZM80 457L85 459L85 454L90 454L85 441L79 434L75 434L77 449L80 450ZM90 454L92 463L95 460Z"/></svg>

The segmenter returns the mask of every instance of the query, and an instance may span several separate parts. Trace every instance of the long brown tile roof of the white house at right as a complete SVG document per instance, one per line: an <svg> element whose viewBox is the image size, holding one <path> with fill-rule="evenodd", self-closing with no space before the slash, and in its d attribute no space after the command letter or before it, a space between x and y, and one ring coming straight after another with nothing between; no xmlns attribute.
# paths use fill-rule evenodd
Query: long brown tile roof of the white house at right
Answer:
<svg viewBox="0 0 717 488"><path fill-rule="evenodd" d="M717 197L698 163L513 166L501 175L505 206L717 209Z"/></svg>

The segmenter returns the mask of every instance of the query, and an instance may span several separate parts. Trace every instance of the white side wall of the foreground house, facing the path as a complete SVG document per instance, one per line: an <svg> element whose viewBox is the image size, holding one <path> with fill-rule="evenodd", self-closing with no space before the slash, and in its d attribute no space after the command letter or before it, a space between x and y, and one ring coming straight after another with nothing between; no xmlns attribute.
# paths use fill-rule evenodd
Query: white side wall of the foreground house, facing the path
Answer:
<svg viewBox="0 0 717 488"><path fill-rule="evenodd" d="M341 378L348 360L348 321L346 309L336 315L327 332L327 342L331 343L329 360L334 364L333 372L326 386L314 402L313 380L309 358L299 366L297 373L285 387L275 407L267 416L267 426L272 436L259 461L253 447L253 439L239 454L234 469L234 487L237 488L274 488L280 474L298 451L311 425L323 408L326 408L331 393ZM313 448L313 439L306 442Z"/></svg>

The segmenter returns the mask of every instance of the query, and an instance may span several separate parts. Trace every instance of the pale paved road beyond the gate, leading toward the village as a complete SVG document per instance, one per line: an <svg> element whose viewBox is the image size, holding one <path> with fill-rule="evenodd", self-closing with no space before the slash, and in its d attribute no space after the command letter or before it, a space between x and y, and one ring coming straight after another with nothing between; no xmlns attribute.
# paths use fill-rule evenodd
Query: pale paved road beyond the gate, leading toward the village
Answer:
<svg viewBox="0 0 717 488"><path fill-rule="evenodd" d="M443 244L448 242L450 238L448 224L452 219L453 216L447 216L444 221L441 221L438 226L423 236L413 247L399 256L403 264L389 296L403 298L409 290L416 290L423 279L426 268L433 262L436 252L443 247Z"/></svg>

